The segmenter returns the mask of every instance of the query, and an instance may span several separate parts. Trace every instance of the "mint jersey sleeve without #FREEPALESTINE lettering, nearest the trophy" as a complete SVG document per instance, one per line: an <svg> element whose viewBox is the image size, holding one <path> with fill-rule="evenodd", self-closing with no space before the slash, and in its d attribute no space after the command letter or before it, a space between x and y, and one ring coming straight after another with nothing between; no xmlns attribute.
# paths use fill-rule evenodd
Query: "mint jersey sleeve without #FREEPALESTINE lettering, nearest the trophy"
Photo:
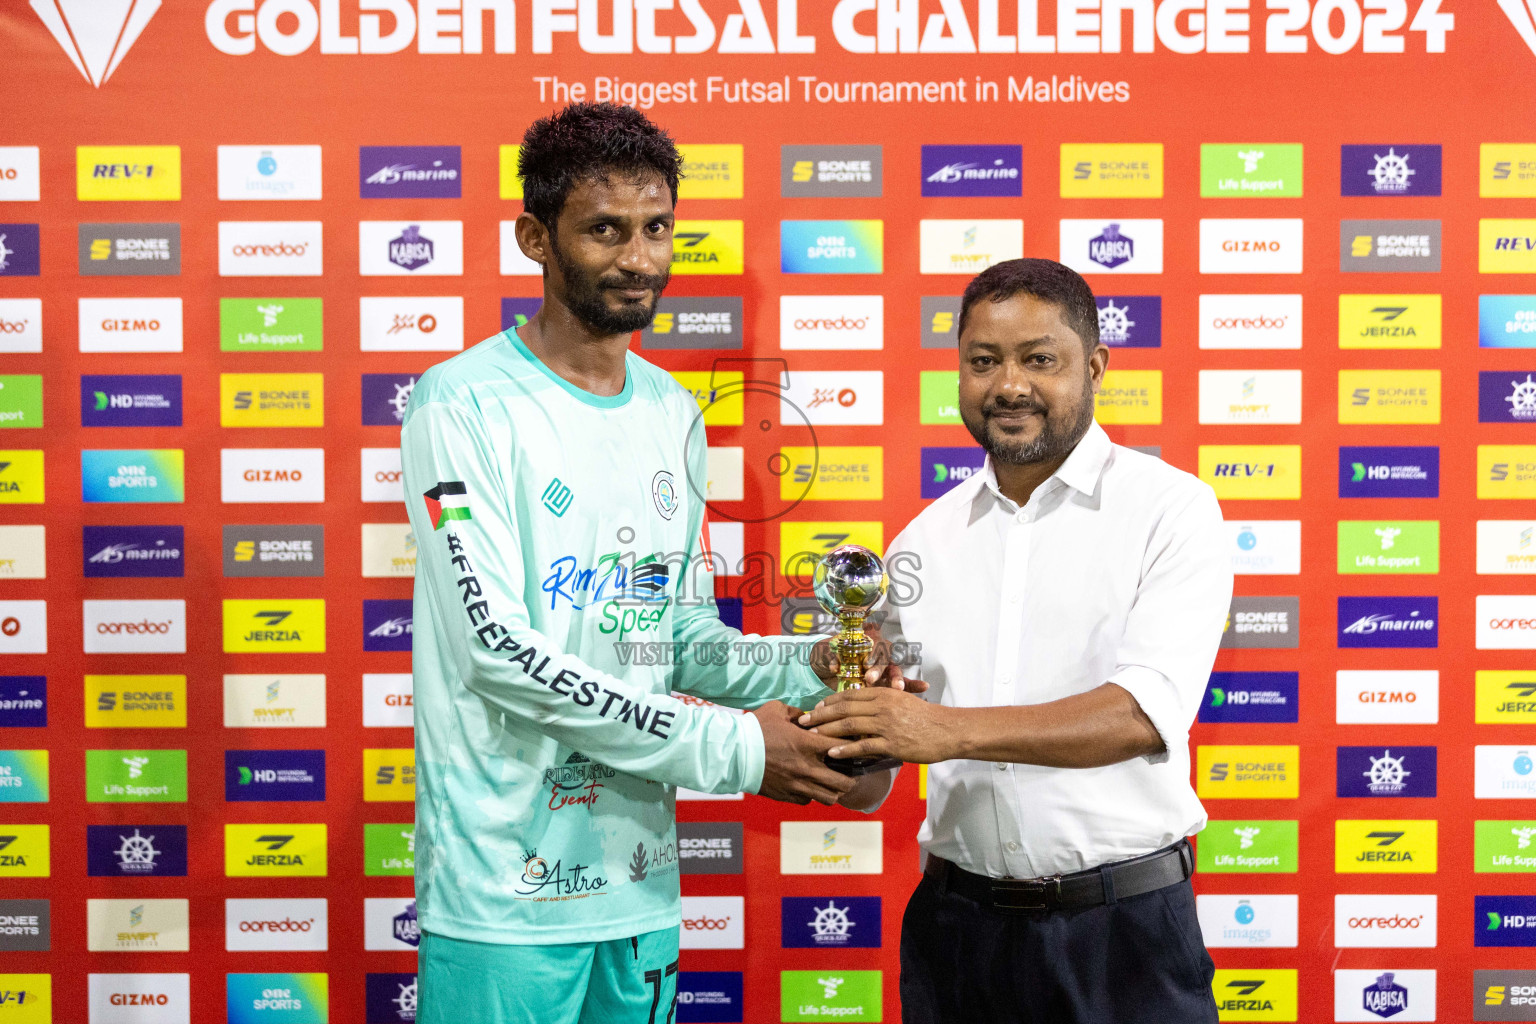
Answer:
<svg viewBox="0 0 1536 1024"><path fill-rule="evenodd" d="M708 476L703 431L694 431L688 450L688 473ZM833 691L811 671L809 648L822 637L763 637L743 634L720 622L714 603L714 567L703 551L703 502L694 502L688 557L684 563L688 593L673 613L673 640L680 643L673 668L673 689L713 700L728 708L757 708L782 700L811 708ZM753 646L773 652L768 665L751 659Z"/></svg>

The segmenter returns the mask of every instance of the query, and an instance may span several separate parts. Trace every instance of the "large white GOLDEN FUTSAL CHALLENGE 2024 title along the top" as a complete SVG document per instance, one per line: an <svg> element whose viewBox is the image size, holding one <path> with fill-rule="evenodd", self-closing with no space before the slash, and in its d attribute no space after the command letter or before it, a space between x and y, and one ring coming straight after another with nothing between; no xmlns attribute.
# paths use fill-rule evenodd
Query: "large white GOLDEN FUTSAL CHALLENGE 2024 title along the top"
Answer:
<svg viewBox="0 0 1536 1024"><path fill-rule="evenodd" d="M1444 54L1444 0L214 0L223 54ZM1410 20L1412 8L1412 20ZM826 5L806 5L823 18ZM813 15L814 12L814 15ZM283 15L290 15L284 18ZM1418 49L1418 45L1415 46Z"/></svg>

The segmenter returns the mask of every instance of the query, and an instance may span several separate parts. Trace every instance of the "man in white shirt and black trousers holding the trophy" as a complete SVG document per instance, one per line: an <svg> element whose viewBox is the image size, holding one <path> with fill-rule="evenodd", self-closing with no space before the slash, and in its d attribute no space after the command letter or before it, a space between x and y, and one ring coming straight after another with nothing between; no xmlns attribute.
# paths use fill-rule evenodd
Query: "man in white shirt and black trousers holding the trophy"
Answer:
<svg viewBox="0 0 1536 1024"><path fill-rule="evenodd" d="M800 718L851 740L829 757L932 765L905 1024L1217 1019L1189 726L1232 571L1212 490L1094 422L1107 362L1068 267L1012 259L971 282L960 415L986 467L886 553L919 580L885 633L922 645L928 700L849 691ZM877 806L891 778L843 803Z"/></svg>

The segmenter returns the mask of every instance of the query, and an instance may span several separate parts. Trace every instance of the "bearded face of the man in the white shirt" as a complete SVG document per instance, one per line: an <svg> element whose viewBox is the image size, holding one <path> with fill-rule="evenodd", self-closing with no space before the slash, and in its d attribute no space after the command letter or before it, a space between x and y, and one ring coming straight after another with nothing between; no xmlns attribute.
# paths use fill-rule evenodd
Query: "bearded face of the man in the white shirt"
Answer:
<svg viewBox="0 0 1536 1024"><path fill-rule="evenodd" d="M1054 302L982 299L960 338L960 419L998 462L1066 457L1094 421L1107 364L1109 350L1089 356Z"/></svg>

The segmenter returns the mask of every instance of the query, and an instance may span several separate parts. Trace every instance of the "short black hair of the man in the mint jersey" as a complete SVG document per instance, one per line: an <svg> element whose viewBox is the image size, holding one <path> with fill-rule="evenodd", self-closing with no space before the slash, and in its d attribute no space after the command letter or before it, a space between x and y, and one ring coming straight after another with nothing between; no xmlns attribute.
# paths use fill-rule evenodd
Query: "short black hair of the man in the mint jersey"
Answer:
<svg viewBox="0 0 1536 1024"><path fill-rule="evenodd" d="M522 209L551 232L571 189L582 181L657 173L667 180L676 206L680 170L682 157L671 135L617 103L571 103L541 117L522 137L518 154Z"/></svg>

